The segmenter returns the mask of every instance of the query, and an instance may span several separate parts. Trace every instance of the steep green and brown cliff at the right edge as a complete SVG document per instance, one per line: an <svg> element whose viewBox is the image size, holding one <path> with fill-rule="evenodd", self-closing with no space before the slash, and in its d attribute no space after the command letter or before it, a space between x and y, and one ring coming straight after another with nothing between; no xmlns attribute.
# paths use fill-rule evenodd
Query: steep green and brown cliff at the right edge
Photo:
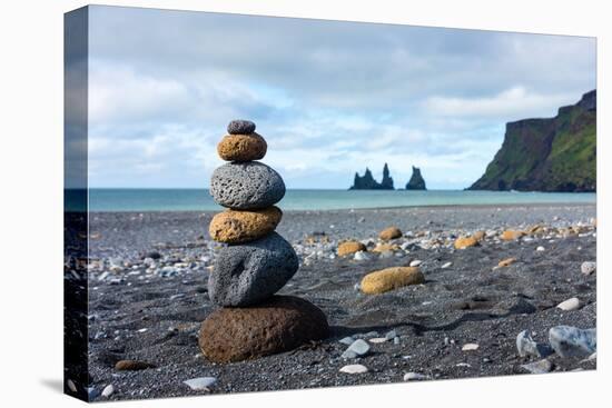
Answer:
<svg viewBox="0 0 612 408"><path fill-rule="evenodd" d="M596 91L554 118L506 125L502 148L470 190L595 191Z"/></svg>

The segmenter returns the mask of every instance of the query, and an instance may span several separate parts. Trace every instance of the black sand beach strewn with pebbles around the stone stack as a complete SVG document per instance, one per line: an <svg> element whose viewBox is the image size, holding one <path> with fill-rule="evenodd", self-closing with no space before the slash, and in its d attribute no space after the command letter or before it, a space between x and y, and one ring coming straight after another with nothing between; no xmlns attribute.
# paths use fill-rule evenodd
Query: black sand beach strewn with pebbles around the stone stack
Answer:
<svg viewBox="0 0 612 408"><path fill-rule="evenodd" d="M519 356L519 332L531 330L545 342L553 326L595 327L596 273L581 273L584 261L595 261L595 213L593 205L286 211L277 230L296 249L300 269L280 293L323 309L332 336L226 365L207 361L197 344L200 322L214 310L207 293L218 246L207 231L214 213L91 213L90 396L103 399L99 394L108 385L115 389L110 399L207 394L182 382L196 377L215 377L210 392L225 394L397 382L406 372L432 380L525 374L521 366L537 359ZM544 231L500 239L504 229L534 225ZM388 226L404 232L392 242L397 250L371 252ZM478 230L486 232L481 246L454 249L455 238ZM368 246L366 259L336 256L338 242L349 238ZM511 257L514 263L495 268ZM357 290L366 273L414 260L425 283L383 295ZM578 310L556 308L572 297L581 301ZM372 344L355 360L340 358L347 347L342 338L379 338L391 330L398 341ZM478 348L464 351L466 344ZM121 359L155 367L117 371ZM553 371L595 368L595 360L549 359ZM338 371L349 364L368 372Z"/></svg>

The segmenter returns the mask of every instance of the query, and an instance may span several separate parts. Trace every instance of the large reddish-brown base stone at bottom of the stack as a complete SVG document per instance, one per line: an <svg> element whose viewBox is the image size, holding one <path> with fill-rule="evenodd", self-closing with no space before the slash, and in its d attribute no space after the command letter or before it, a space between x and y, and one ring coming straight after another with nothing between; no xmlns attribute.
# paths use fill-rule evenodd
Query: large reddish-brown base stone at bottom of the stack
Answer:
<svg viewBox="0 0 612 408"><path fill-rule="evenodd" d="M274 296L248 308L214 311L201 325L199 347L216 362L292 350L329 334L325 314L307 300Z"/></svg>

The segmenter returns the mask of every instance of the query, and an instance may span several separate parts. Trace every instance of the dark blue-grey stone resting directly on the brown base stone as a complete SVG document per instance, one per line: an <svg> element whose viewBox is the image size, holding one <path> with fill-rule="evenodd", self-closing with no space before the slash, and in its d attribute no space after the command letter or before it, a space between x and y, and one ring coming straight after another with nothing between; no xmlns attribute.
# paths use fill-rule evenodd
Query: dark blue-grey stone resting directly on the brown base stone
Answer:
<svg viewBox="0 0 612 408"><path fill-rule="evenodd" d="M218 306L254 305L283 288L298 266L294 248L276 232L221 248L208 278L210 300Z"/></svg>

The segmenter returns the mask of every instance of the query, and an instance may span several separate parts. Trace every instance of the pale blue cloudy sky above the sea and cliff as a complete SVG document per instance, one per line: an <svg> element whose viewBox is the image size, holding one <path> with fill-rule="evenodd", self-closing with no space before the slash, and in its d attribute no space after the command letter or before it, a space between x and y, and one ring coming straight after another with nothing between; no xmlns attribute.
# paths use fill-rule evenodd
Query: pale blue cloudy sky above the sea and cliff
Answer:
<svg viewBox="0 0 612 408"><path fill-rule="evenodd" d="M91 187L208 187L227 122L251 119L288 188L475 181L505 122L595 88L579 37L91 7Z"/></svg>

